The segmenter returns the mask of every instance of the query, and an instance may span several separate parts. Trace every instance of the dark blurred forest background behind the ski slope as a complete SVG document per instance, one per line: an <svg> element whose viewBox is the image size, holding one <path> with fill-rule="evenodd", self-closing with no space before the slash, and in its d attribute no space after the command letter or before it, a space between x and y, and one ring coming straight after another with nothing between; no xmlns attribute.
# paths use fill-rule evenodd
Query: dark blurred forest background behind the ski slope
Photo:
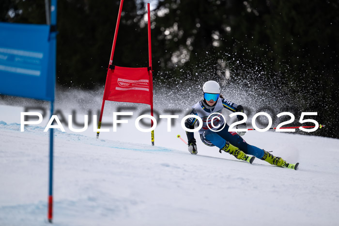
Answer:
<svg viewBox="0 0 339 226"><path fill-rule="evenodd" d="M119 4L120 0L58 1L60 87L104 86ZM339 138L339 0L151 4L155 84L170 86L178 79L202 77L220 81L228 70L229 79L243 83L244 89L257 84L307 103L302 110L318 112L317 121L326 124L318 135ZM1 0L0 21L46 24L45 12L44 0ZM145 1L124 0L115 65L148 66L145 14ZM201 72L201 67L210 73Z"/></svg>

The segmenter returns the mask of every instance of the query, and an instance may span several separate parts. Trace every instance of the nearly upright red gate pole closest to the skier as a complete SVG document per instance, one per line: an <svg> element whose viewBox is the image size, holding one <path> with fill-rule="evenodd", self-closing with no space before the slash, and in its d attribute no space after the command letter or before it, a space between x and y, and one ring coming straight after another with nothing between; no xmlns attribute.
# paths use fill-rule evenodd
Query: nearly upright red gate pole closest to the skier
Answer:
<svg viewBox="0 0 339 226"><path fill-rule="evenodd" d="M147 3L147 18L148 18L148 60L149 60L149 75L150 75L150 100L151 100L151 116L153 116L153 74L152 74L152 46L151 46L151 16L150 3ZM153 120L151 120L153 127ZM154 130L151 132L152 145L154 146Z"/></svg>

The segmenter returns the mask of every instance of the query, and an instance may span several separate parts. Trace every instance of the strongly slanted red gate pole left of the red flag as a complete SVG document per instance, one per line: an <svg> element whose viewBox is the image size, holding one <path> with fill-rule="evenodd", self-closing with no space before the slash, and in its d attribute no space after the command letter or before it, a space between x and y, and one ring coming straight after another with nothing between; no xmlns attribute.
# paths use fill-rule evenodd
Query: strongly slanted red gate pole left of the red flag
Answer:
<svg viewBox="0 0 339 226"><path fill-rule="evenodd" d="M115 26L114 39L113 39L112 50L111 50L110 58L109 58L108 70L114 70L114 68L112 68L113 56L114 56L115 44L117 42L117 36L118 36L118 30L119 30L119 24L120 24L120 17L121 17L122 11L123 11L123 0L120 0L118 20L117 20L117 24ZM98 122L98 129L100 129L100 127L101 127L101 120L102 120L102 115L104 113L105 100L106 100L106 96L107 96L107 92L108 92L108 89L106 89L106 87L110 87L110 84L108 84L108 83L110 83L110 81L111 81L110 73L107 73L104 96L102 98L101 111L100 111L100 117L99 117L99 122ZM99 138L99 134L100 134L100 132L96 132L96 138Z"/></svg>

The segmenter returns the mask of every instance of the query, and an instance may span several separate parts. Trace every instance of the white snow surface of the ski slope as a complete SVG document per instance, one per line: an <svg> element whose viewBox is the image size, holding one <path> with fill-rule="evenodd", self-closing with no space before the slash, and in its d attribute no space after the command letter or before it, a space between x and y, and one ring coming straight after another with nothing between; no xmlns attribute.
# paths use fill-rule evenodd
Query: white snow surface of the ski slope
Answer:
<svg viewBox="0 0 339 226"><path fill-rule="evenodd" d="M112 121L107 105L103 122ZM139 112L141 105L133 106ZM71 113L75 105L58 107ZM48 119L20 132L22 111L0 105L0 226L49 225ZM53 225L339 225L339 139L256 131L243 136L299 162L295 171L236 160L203 145L198 134L198 155L191 155L176 137L186 138L179 119L171 132L166 121L158 123L152 147L150 133L135 128L136 117L117 132L106 127L111 132L99 139L92 125L83 133L55 130Z"/></svg>

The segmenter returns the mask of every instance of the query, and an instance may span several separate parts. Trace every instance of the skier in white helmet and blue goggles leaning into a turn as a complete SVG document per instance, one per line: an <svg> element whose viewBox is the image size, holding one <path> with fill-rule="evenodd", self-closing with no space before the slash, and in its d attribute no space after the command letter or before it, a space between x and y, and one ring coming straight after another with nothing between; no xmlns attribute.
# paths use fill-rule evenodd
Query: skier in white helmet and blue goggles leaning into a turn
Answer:
<svg viewBox="0 0 339 226"><path fill-rule="evenodd" d="M231 101L224 99L220 95L220 86L216 81L207 81L202 86L202 91L202 100L193 105L192 111L190 113L191 115L199 116L203 122L203 125L199 130L202 143L207 146L216 146L220 149L220 153L221 151L225 151L237 159L245 160L251 164L254 158L257 157L272 165L294 168L294 164L288 164L280 157L275 157L265 150L247 144L247 142L236 132L228 132L229 125L223 120L222 117L219 117L218 119L211 116L207 122L209 115L213 113L221 114L223 108L227 108L232 112L244 112L244 108L242 105L236 105ZM214 120L211 122L211 119L213 118ZM244 117L237 115L237 118L238 121L240 121L243 120ZM185 127L188 129L194 129L194 124L196 121L196 118L188 118L185 121ZM224 123L225 127L221 131L216 132L216 130L219 130L222 128L222 126L224 126ZM246 129L246 123L240 124L236 128ZM240 135L244 135L245 133L246 132L239 132ZM188 140L188 151L191 154L197 154L198 150L194 133L186 131L186 135ZM253 155L255 157L249 157L247 154ZM295 166L295 169L296 167L297 165Z"/></svg>

